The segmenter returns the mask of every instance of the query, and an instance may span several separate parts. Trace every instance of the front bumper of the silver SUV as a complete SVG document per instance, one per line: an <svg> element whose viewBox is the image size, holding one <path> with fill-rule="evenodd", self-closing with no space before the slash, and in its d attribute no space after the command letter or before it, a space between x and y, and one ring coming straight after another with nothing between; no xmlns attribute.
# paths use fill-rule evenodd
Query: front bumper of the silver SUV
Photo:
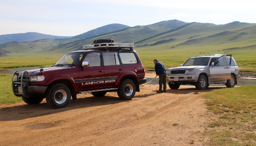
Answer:
<svg viewBox="0 0 256 146"><path fill-rule="evenodd" d="M175 81L175 77L178 77L179 80ZM196 82L198 80L198 77L198 74L166 75L166 80L169 82Z"/></svg>

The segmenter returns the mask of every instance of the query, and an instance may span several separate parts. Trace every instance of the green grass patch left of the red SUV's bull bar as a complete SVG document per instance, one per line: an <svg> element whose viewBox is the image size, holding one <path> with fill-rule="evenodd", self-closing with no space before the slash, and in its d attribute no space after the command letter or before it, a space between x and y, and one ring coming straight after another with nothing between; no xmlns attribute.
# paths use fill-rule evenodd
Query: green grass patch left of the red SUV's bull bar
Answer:
<svg viewBox="0 0 256 146"><path fill-rule="evenodd" d="M12 74L0 74L0 105L22 101L21 97L14 96L11 80Z"/></svg>

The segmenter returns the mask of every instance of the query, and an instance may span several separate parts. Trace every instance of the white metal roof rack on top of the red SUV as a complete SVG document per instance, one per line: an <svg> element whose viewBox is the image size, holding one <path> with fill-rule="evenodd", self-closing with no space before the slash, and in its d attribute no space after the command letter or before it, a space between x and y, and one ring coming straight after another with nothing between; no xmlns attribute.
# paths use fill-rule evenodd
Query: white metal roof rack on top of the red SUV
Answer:
<svg viewBox="0 0 256 146"><path fill-rule="evenodd" d="M122 49L122 48L129 48L132 49L134 43L97 43L97 44L91 44L91 45L82 45L82 49L84 50L93 50L93 49ZM94 46L99 45L99 46Z"/></svg>

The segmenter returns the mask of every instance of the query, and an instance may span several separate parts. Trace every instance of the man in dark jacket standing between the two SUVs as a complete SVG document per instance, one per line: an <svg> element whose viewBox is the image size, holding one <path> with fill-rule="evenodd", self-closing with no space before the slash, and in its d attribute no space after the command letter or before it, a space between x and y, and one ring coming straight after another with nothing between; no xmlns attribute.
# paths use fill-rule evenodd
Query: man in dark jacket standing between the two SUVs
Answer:
<svg viewBox="0 0 256 146"><path fill-rule="evenodd" d="M154 60L156 74L159 75L159 91L157 93L166 92L166 70L164 65L157 59ZM163 91L162 91L163 84Z"/></svg>

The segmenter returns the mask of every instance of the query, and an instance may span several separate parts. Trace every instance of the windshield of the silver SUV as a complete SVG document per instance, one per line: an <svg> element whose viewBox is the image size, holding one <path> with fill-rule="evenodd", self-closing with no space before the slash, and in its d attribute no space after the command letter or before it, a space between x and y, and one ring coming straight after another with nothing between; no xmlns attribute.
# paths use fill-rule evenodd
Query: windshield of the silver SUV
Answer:
<svg viewBox="0 0 256 146"><path fill-rule="evenodd" d="M210 57L193 57L185 62L183 66L207 66Z"/></svg>

